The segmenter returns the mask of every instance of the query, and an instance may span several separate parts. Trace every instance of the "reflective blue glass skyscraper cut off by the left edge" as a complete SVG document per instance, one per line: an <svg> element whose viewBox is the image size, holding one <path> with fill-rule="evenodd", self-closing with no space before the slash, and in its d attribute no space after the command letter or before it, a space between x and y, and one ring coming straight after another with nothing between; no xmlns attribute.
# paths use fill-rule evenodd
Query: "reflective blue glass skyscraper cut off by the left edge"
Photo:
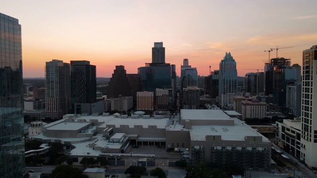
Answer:
<svg viewBox="0 0 317 178"><path fill-rule="evenodd" d="M0 13L0 177L24 167L22 42L19 20Z"/></svg>

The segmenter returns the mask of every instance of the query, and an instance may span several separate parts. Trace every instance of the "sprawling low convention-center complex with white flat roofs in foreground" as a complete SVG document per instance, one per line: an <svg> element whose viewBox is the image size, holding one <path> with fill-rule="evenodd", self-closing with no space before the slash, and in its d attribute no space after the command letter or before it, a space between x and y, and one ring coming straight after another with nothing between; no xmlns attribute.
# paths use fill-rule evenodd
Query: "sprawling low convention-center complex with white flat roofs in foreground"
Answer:
<svg viewBox="0 0 317 178"><path fill-rule="evenodd" d="M31 139L60 142L69 150L74 165L79 165L84 157L106 157L107 164L113 166L128 166L128 160L135 159L135 163L139 163L148 158L153 159L144 165L157 165L155 158L172 165L171 159L155 154L127 153L129 145L136 144L188 151L188 159L194 164L234 161L242 167L270 169L270 141L221 110L182 109L180 115L170 118L108 113L65 115L44 126L43 133Z"/></svg>

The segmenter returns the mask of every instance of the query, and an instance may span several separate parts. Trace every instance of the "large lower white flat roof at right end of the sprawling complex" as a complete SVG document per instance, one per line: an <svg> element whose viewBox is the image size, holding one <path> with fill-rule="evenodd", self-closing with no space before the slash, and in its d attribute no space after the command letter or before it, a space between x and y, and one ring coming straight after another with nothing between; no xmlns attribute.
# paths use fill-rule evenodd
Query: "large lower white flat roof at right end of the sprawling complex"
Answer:
<svg viewBox="0 0 317 178"><path fill-rule="evenodd" d="M245 136L262 136L263 142L269 142L265 136L258 133L239 119L232 119L234 120L233 126L192 126L192 129L189 130L191 140L206 140L206 135L221 135L221 140L228 141L244 141Z"/></svg>

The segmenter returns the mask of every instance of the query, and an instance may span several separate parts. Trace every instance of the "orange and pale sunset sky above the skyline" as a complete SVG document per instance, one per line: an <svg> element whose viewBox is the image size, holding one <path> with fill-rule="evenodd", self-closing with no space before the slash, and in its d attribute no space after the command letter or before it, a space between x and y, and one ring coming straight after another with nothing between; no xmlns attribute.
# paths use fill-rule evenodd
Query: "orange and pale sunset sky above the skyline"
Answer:
<svg viewBox="0 0 317 178"><path fill-rule="evenodd" d="M165 62L183 58L198 74L219 69L225 52L238 76L264 69L268 53L302 65L302 51L317 45L317 0L1 0L0 12L22 26L23 77L44 77L52 59L89 60L97 77L116 65L127 73L152 61L163 42ZM276 57L276 51L271 52Z"/></svg>

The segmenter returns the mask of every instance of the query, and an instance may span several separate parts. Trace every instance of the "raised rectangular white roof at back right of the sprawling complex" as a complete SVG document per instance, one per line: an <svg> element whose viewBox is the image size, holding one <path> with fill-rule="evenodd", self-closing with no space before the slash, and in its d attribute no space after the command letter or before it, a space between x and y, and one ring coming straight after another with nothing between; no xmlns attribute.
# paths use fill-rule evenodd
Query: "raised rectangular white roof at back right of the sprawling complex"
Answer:
<svg viewBox="0 0 317 178"><path fill-rule="evenodd" d="M181 109L182 120L231 120L219 109Z"/></svg>

